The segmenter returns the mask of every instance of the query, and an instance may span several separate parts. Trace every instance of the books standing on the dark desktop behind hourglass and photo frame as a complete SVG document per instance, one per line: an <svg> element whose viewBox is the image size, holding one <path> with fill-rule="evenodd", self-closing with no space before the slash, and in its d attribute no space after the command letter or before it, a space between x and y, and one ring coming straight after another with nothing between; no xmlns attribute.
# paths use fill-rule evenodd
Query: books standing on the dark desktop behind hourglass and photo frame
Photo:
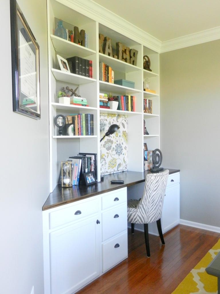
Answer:
<svg viewBox="0 0 220 294"><path fill-rule="evenodd" d="M77 156L70 156L72 160L73 176L72 185L84 185L84 173L94 171L97 179L97 153L78 153Z"/></svg>

